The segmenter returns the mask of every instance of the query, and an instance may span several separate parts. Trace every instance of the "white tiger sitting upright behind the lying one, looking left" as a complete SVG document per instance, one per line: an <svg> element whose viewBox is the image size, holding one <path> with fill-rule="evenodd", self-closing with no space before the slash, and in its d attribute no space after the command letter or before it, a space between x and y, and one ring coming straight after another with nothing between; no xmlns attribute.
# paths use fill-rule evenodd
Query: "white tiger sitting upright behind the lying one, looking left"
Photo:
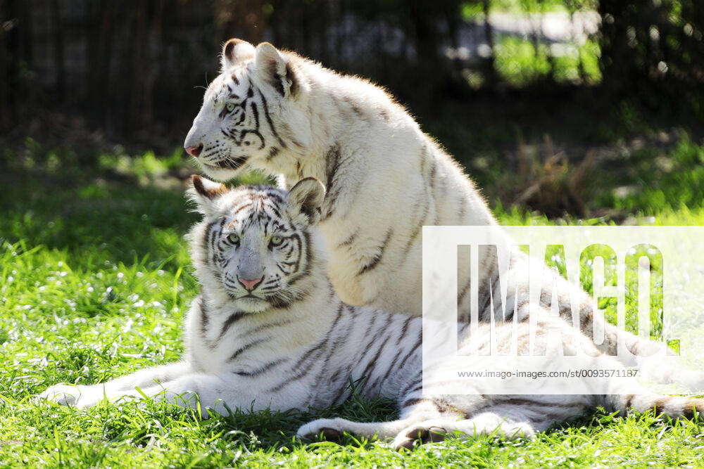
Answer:
<svg viewBox="0 0 704 469"><path fill-rule="evenodd" d="M208 87L184 146L206 174L223 181L250 169L284 176L284 184L320 179L327 188L320 231L329 249L329 277L350 304L420 315L422 226L496 224L462 169L384 90L268 43L255 49L227 41L222 72ZM524 271L524 257L516 255L513 270ZM459 260L458 310L467 317L469 263ZM491 255L479 265L479 319L528 314L529 305L513 297L503 305L506 316L500 302L492 310L498 265ZM700 373L641 359L659 345L609 323L595 328L603 320L593 315L591 298L557 274L554 283L544 278L543 306L554 288L560 316L570 323L570 295L578 290L572 298L579 299L579 327L605 330L600 350L615 355L620 340L638 357L624 365L640 366L641 375L679 380L694 390L704 385Z"/></svg>

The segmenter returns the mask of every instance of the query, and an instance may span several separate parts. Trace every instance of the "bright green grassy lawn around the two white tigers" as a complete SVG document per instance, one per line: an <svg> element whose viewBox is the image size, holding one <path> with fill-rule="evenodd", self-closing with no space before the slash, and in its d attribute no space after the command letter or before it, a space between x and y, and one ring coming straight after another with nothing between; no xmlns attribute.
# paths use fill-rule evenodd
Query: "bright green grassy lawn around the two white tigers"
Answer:
<svg viewBox="0 0 704 469"><path fill-rule="evenodd" d="M61 164L52 169L51 155L41 171L20 161L25 170L0 175L1 466L701 464L701 424L668 425L649 415L597 412L531 442L450 439L399 453L352 437L343 445L294 438L298 425L317 416L394 418L386 401L209 420L168 404L76 411L32 402L49 385L100 383L182 352L181 321L197 291L183 234L196 216L177 179L155 179L169 161L177 165L177 155L94 160L97 178ZM101 165L111 171L103 175ZM503 224L550 222L520 210L497 214ZM695 200L634 220L704 225L704 208Z"/></svg>

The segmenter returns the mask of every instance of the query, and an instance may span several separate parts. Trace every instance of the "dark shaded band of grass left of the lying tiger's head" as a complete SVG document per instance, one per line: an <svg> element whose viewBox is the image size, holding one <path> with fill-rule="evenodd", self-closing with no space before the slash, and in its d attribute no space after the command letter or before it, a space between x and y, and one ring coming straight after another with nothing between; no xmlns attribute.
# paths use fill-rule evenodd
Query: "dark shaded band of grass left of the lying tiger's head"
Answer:
<svg viewBox="0 0 704 469"><path fill-rule="evenodd" d="M180 190L42 172L4 172L0 186L0 240L65 250L87 269L145 257L161 269L188 262L183 235L198 216Z"/></svg>

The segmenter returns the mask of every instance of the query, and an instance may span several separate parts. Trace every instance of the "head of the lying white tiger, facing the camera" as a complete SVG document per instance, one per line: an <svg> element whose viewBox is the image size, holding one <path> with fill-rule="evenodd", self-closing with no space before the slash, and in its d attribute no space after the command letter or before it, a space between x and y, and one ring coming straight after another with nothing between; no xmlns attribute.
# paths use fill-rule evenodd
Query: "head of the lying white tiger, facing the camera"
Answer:
<svg viewBox="0 0 704 469"><path fill-rule="evenodd" d="M287 307L318 285L324 273L313 225L325 197L318 179L303 179L288 193L192 181L203 220L191 230L191 257L208 294L254 313Z"/></svg>

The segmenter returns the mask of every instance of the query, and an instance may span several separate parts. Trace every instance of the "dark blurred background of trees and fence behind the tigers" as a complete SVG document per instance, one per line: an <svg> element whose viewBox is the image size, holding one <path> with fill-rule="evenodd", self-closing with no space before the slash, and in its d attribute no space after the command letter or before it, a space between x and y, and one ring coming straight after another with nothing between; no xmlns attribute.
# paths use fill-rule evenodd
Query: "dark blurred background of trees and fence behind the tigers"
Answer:
<svg viewBox="0 0 704 469"><path fill-rule="evenodd" d="M0 161L15 171L49 168L51 151L62 167L172 154L230 37L385 86L494 207L619 219L648 201L612 192L658 179L669 149L696 147L683 171L704 162L698 0L0 0L0 32ZM683 197L665 191L702 200Z"/></svg>

